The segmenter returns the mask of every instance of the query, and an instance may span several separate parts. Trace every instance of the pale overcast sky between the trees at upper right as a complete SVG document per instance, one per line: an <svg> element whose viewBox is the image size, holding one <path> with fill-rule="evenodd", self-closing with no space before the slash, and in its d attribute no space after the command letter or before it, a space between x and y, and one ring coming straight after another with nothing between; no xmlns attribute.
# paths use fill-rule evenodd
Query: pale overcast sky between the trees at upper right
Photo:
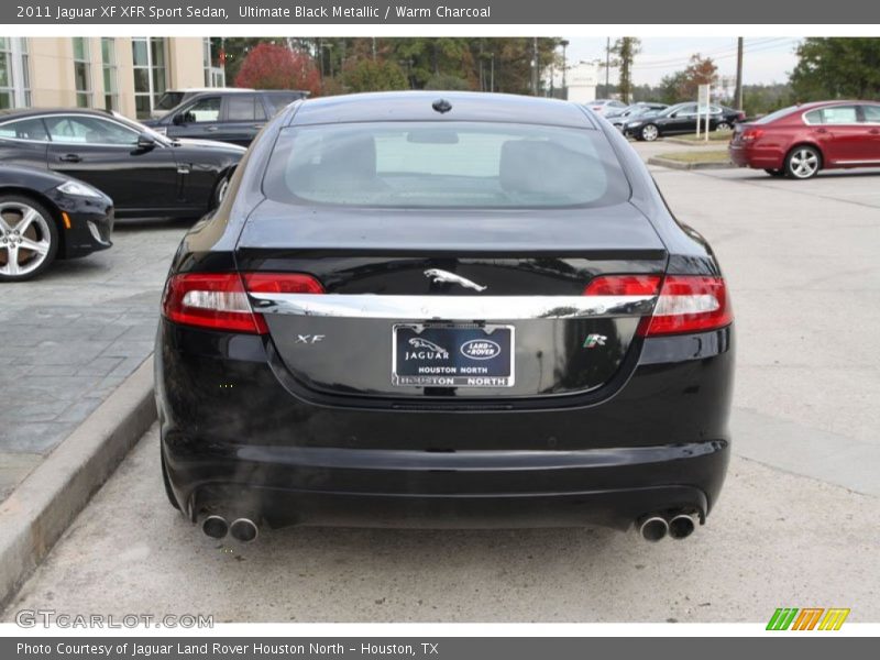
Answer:
<svg viewBox="0 0 880 660"><path fill-rule="evenodd" d="M580 61L605 61L604 37L565 37L569 66ZM794 48L800 40L758 36L746 38L743 77L746 85L785 82L798 58ZM614 37L612 37L612 43ZM636 56L632 81L636 85L657 85L660 78L683 69L694 53L710 56L722 76L736 75L736 37L644 37L641 53ZM604 69L601 75L604 81ZM617 73L612 69L612 82Z"/></svg>

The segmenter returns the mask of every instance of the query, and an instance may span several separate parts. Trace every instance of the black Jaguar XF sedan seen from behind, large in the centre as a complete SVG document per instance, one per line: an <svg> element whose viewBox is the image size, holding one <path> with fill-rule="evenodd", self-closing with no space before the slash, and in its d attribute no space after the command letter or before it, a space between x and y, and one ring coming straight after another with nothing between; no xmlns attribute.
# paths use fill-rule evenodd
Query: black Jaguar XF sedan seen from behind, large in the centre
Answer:
<svg viewBox="0 0 880 660"><path fill-rule="evenodd" d="M300 101L184 238L156 397L172 503L261 527L689 536L729 459L727 287L575 103Z"/></svg>

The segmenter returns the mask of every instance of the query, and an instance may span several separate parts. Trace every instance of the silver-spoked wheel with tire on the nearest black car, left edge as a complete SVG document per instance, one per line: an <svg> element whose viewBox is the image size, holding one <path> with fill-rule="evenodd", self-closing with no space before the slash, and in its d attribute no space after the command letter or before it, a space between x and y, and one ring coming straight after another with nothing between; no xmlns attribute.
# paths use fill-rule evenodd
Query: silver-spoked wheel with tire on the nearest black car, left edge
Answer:
<svg viewBox="0 0 880 660"><path fill-rule="evenodd" d="M0 196L0 282L43 273L55 261L58 242L58 226L46 207L23 195Z"/></svg>

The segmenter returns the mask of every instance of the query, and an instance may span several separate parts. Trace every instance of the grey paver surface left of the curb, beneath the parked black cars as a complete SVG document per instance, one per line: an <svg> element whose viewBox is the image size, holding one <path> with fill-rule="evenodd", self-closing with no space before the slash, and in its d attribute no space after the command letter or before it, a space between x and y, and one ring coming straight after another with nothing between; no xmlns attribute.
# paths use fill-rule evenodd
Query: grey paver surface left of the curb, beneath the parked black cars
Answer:
<svg viewBox="0 0 880 660"><path fill-rule="evenodd" d="M153 351L162 284L189 224L119 221L110 250L2 287L0 501Z"/></svg>

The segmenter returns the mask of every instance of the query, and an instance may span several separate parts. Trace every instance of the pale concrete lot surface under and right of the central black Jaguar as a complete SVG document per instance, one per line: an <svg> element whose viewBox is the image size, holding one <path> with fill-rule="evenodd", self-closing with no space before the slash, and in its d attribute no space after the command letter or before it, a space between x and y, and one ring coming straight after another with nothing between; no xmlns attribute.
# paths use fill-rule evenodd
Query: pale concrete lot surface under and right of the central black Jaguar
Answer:
<svg viewBox="0 0 880 660"><path fill-rule="evenodd" d="M217 542L166 504L153 429L2 618L762 622L835 606L880 620L880 173L653 174L717 251L737 317L736 455L693 537L287 529Z"/></svg>

